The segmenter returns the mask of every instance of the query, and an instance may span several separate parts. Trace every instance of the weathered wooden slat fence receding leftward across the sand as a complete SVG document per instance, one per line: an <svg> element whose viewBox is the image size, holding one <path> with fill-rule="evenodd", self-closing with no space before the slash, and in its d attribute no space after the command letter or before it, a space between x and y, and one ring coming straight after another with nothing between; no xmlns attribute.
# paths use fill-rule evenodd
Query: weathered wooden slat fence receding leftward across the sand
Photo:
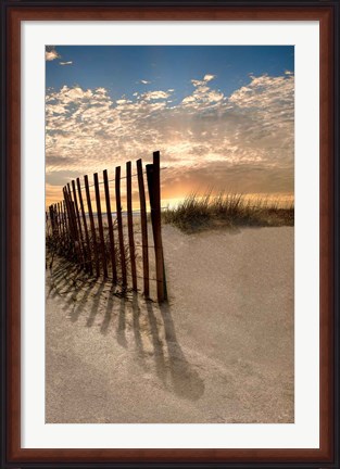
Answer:
<svg viewBox="0 0 340 469"><path fill-rule="evenodd" d="M134 210L133 203L135 181L138 210ZM114 198L110 182L114 185ZM126 202L126 211L123 211L123 200ZM149 207L153 238L151 245ZM138 160L136 174L133 174L131 162L127 162L124 177L121 166L117 166L112 179L105 169L102 180L98 173L93 175L93 182L89 181L87 175L84 176L84 182L79 178L72 180L63 188L63 200L48 207L46 221L48 245L75 262L89 275L112 279L114 284L135 291L140 289L139 283L142 281L146 297L150 297L150 281L154 281L158 301L167 300L161 229L160 152L153 153L153 163L146 165L146 172L142 161ZM137 262L139 259L141 263ZM154 270L152 276L151 261Z"/></svg>

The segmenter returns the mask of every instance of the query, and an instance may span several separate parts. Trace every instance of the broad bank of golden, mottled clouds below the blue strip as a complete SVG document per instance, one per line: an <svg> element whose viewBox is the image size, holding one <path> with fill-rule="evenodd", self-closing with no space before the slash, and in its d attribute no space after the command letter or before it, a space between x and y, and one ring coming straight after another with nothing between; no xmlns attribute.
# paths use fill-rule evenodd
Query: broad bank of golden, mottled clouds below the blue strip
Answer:
<svg viewBox="0 0 340 469"><path fill-rule="evenodd" d="M47 182L55 186L60 175L64 183L67 172L112 172L160 150L168 167L164 194L204 181L247 192L293 191L293 74L251 76L230 96L212 87L211 76L193 79L192 92L177 104L167 102L171 90L116 101L104 88L49 90Z"/></svg>

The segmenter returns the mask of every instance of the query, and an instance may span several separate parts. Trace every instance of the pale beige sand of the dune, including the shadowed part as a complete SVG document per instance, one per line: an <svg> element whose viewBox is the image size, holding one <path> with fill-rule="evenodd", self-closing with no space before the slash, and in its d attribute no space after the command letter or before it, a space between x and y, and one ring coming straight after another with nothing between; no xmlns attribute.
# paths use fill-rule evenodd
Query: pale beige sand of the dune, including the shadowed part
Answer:
<svg viewBox="0 0 340 469"><path fill-rule="evenodd" d="M47 422L292 422L293 228L163 243L161 308L48 278Z"/></svg>

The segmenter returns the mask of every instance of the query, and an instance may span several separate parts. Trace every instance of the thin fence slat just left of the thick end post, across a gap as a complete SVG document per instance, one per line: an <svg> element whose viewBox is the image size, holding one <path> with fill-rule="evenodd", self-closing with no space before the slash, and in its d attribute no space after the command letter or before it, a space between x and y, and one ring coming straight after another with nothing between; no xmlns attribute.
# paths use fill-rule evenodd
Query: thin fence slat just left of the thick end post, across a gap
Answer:
<svg viewBox="0 0 340 469"><path fill-rule="evenodd" d="M146 206L146 190L142 174L142 162L137 161L137 175L138 175L138 189L139 189L139 203L140 203L140 227L141 227L141 246L143 258L143 281L144 281L144 295L149 297L149 252L148 252L148 221L147 221L147 206Z"/></svg>

